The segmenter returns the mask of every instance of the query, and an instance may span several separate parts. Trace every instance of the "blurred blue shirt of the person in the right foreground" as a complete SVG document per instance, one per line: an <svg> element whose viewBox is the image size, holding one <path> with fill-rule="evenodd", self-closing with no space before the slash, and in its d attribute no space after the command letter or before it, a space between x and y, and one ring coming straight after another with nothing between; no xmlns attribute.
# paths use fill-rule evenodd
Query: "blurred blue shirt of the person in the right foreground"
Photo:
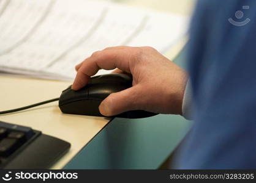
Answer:
<svg viewBox="0 0 256 183"><path fill-rule="evenodd" d="M255 169L256 1L198 1L187 62L194 126L175 168Z"/></svg>

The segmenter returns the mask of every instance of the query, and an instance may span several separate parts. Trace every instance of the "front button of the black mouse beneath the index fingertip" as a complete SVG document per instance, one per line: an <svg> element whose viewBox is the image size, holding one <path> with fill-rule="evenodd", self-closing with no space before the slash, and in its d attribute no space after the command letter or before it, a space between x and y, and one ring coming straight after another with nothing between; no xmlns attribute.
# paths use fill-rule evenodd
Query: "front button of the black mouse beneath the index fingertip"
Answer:
<svg viewBox="0 0 256 183"><path fill-rule="evenodd" d="M64 90L62 91L59 98L59 105L65 104L67 102L88 99L88 93L88 87L81 88L77 91L72 90L71 88L69 88L68 90Z"/></svg>

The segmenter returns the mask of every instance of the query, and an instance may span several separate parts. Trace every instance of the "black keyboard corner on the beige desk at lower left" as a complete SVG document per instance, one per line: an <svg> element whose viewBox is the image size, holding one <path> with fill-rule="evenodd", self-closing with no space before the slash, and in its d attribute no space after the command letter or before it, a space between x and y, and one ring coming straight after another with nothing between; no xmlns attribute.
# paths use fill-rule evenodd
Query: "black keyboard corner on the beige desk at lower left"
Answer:
<svg viewBox="0 0 256 183"><path fill-rule="evenodd" d="M31 127L0 121L0 168L50 168L70 148L70 143Z"/></svg>

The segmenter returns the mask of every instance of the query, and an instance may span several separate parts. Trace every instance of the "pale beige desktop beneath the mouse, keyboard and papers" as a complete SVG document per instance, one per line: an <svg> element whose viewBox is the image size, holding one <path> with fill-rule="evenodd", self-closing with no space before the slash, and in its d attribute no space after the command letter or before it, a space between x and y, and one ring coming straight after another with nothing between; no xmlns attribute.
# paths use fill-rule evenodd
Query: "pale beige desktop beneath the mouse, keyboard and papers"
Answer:
<svg viewBox="0 0 256 183"><path fill-rule="evenodd" d="M124 0L116 2L183 15L189 15L194 5L192 0ZM173 59L184 43L186 43L186 38L171 48L166 56ZM0 76L0 84L0 110L8 110L59 97L61 91L71 83ZM44 134L70 142L70 151L52 167L58 169L64 167L108 123L109 118L63 114L58 108L58 102L52 102L23 112L0 115L0 121L30 126Z"/></svg>

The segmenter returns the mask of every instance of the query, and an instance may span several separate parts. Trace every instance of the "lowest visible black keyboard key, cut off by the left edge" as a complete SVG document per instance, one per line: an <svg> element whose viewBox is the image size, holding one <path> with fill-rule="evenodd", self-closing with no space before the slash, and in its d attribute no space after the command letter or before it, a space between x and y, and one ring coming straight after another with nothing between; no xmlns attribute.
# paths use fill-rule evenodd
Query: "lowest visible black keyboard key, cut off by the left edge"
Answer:
<svg viewBox="0 0 256 183"><path fill-rule="evenodd" d="M9 156L18 148L19 140L17 138L4 138L0 142L0 156Z"/></svg>

